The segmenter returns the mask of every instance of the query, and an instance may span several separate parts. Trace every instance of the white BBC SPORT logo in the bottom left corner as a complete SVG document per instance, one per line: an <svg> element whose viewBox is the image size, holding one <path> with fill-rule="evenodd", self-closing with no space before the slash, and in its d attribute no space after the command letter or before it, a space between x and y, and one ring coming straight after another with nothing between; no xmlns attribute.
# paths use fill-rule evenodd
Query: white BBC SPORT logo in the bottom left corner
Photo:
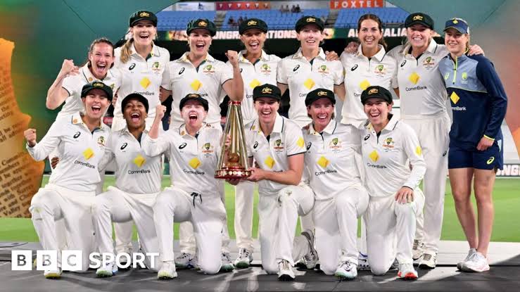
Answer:
<svg viewBox="0 0 520 292"><path fill-rule="evenodd" d="M82 271L83 256L82 250L62 250L61 251L61 269L63 271ZM104 267L109 262L114 262L119 269L127 269L132 265L146 268L145 260L149 258L149 268L156 267L156 258L159 253L90 253L89 269L98 269ZM120 262L125 262L121 264ZM11 251L11 270L13 271L30 271L32 270L32 250L12 250ZM49 269L58 269L58 251L57 250L36 250L36 269L45 271Z"/></svg>

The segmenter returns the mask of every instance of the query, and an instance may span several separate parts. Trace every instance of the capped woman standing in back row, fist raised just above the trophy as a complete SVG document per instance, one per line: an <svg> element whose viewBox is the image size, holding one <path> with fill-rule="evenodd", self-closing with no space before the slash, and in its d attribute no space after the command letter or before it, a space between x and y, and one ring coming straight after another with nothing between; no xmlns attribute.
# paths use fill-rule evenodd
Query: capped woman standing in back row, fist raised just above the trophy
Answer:
<svg viewBox="0 0 520 292"><path fill-rule="evenodd" d="M200 94L208 101L209 111L205 118L208 125L222 131L220 126L220 103L225 94L232 101L242 101L243 82L240 74L238 53L227 51L226 55L231 66L218 61L208 53L211 42L217 29L215 23L207 19L191 20L186 28L188 34L189 51L181 58L167 64L161 84L164 96L173 96L172 111L170 113L170 127L180 127L184 120L181 117L179 103L187 94ZM224 92L225 91L225 94ZM224 201L224 182L219 181L220 195ZM179 243L181 254L175 260L177 267L195 266L195 242L193 227L190 222L180 224ZM224 232L222 259L225 261L223 269L233 269L233 263L227 250L229 236Z"/></svg>

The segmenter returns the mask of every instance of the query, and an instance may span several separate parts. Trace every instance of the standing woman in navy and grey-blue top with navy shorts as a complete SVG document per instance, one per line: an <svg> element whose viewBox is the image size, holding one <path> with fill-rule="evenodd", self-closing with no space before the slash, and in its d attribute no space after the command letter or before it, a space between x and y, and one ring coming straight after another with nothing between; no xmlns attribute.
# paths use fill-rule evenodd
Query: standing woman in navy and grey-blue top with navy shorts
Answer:
<svg viewBox="0 0 520 292"><path fill-rule="evenodd" d="M486 257L495 215L492 198L495 172L503 167L500 125L506 113L507 96L488 58L467 56L468 23L452 18L446 22L444 31L450 54L440 61L439 70L453 110L448 171L455 210L470 248L467 258L457 267L466 272L483 272L489 269ZM473 180L478 233L470 201Z"/></svg>

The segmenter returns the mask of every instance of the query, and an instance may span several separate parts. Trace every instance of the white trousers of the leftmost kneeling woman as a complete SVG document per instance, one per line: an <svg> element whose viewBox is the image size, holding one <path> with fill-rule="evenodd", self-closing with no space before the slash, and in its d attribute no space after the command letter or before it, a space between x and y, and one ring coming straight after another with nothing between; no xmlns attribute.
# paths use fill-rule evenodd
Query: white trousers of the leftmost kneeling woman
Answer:
<svg viewBox="0 0 520 292"><path fill-rule="evenodd" d="M44 250L58 250L58 267L61 267L61 246L56 227L63 228L63 225L57 226L56 221L63 219L68 250L81 250L81 269L89 268L89 255L96 247L91 213L94 196L94 191L75 191L47 184L32 197L29 208L32 224Z"/></svg>

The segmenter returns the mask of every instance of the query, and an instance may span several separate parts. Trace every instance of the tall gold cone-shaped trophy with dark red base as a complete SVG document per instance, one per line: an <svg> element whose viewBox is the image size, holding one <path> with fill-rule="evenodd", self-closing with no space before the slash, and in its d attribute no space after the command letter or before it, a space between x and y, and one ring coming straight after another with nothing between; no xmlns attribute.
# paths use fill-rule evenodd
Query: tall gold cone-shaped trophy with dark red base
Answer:
<svg viewBox="0 0 520 292"><path fill-rule="evenodd" d="M246 135L243 132L242 110L240 101L229 101L227 121L222 136L222 152L215 170L217 179L243 179L251 175L246 150ZM226 151L226 139L231 144ZM227 154L227 155L226 155Z"/></svg>

